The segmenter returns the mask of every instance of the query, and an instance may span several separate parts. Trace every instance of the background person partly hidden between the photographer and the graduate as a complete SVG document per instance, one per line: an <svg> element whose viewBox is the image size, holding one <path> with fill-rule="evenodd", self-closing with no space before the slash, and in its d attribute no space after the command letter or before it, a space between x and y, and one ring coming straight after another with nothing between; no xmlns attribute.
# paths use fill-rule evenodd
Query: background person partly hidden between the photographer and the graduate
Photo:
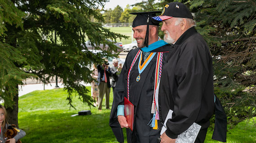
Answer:
<svg viewBox="0 0 256 143"><path fill-rule="evenodd" d="M118 66L118 60L113 59L113 66L110 68L110 71L112 72L112 81L111 81L111 87L113 89L113 95L115 92L115 84L119 78L120 72L122 70L122 63Z"/></svg>

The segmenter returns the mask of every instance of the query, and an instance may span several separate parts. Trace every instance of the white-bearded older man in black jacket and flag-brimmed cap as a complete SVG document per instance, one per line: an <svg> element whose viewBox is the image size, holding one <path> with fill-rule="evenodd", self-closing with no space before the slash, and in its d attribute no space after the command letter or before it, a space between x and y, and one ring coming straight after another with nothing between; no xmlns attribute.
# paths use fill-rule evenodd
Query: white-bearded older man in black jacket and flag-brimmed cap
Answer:
<svg viewBox="0 0 256 143"><path fill-rule="evenodd" d="M171 45L159 84L161 143L175 143L194 122L201 126L195 143L203 143L214 111L212 56L197 33L190 10L182 3L165 5L160 16L164 41ZM174 45L173 45L174 44ZM168 113L172 117L167 118Z"/></svg>

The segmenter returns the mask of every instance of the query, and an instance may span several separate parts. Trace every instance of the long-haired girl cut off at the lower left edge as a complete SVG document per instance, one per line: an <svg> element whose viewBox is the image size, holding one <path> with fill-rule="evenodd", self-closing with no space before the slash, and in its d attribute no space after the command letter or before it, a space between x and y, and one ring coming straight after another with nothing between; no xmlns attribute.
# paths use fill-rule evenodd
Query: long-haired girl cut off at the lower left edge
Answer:
<svg viewBox="0 0 256 143"><path fill-rule="evenodd" d="M11 125L9 125L7 122L6 109L4 108L3 105L0 105L0 127L1 127L0 128L1 129L0 143L5 143L6 141L10 141L10 143L16 143L16 141L18 141L18 139L21 139L26 135L25 131L15 128L17 130L18 134L11 139L5 139L4 133L6 132L6 130L8 129L9 126L11 126Z"/></svg>

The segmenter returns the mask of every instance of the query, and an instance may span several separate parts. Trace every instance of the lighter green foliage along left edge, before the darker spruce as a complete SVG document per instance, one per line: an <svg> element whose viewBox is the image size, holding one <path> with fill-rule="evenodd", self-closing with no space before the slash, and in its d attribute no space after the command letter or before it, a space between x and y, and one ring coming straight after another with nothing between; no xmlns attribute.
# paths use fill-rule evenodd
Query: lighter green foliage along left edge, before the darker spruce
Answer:
<svg viewBox="0 0 256 143"><path fill-rule="evenodd" d="M13 105L13 98L18 94L18 84L22 84L23 79L33 76L17 67L26 64L26 58L21 51L5 43L9 39L4 39L9 30L6 24L22 29L22 17L25 17L25 13L19 11L12 2L0 1L0 99L5 101L7 107Z"/></svg>

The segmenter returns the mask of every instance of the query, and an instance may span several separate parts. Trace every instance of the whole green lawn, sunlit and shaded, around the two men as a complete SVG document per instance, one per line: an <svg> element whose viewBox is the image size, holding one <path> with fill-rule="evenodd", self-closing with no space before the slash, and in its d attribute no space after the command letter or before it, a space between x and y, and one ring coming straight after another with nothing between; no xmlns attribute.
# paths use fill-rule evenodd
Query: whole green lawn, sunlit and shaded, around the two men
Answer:
<svg viewBox="0 0 256 143"><path fill-rule="evenodd" d="M90 89L90 87L88 87ZM90 94L90 93L89 93ZM76 110L69 108L67 93L63 89L34 91L19 97L19 127L26 131L22 143L118 143L108 124L110 110L102 111L84 105L73 97ZM113 101L110 92L110 107ZM81 110L91 110L91 115L75 116ZM126 139L126 132L124 130ZM241 122L227 134L227 143L256 143L253 122ZM211 139L208 130L205 143L221 143ZM125 141L126 142L126 141Z"/></svg>

